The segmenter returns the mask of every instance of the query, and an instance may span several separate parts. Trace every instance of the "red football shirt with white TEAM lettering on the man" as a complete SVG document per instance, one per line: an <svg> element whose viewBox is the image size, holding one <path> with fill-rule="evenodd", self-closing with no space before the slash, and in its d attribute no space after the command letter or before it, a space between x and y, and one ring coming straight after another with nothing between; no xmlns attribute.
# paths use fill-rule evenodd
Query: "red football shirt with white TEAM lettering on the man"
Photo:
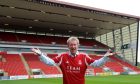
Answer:
<svg viewBox="0 0 140 84"><path fill-rule="evenodd" d="M87 65L94 62L84 53L72 57L68 52L53 58L59 64L63 73L63 84L85 84L85 71Z"/></svg>

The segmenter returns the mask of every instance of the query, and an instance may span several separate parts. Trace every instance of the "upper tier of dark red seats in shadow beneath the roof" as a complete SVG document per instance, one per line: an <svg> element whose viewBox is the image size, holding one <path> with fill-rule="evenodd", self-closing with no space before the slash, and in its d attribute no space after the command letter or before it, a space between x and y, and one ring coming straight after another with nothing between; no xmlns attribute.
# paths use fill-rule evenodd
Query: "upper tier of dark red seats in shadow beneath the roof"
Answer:
<svg viewBox="0 0 140 84"><path fill-rule="evenodd" d="M59 40L58 40L59 39ZM68 37L56 37L56 36L43 36L32 34L18 34L0 32L0 41L8 42L27 42L27 43L45 43L45 44L63 44L66 45ZM94 47L107 47L106 45L91 39L80 39L80 45L94 46Z"/></svg>

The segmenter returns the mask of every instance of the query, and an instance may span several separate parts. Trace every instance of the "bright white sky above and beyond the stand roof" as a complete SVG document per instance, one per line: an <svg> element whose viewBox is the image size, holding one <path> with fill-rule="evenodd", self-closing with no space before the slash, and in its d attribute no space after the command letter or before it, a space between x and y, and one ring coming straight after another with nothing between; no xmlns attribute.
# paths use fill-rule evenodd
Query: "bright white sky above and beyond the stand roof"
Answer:
<svg viewBox="0 0 140 84"><path fill-rule="evenodd" d="M114 11L140 18L140 0L56 0L85 5L97 9ZM139 26L140 27L140 26ZM140 28L139 28L140 32ZM138 45L138 62L140 62L140 33Z"/></svg>

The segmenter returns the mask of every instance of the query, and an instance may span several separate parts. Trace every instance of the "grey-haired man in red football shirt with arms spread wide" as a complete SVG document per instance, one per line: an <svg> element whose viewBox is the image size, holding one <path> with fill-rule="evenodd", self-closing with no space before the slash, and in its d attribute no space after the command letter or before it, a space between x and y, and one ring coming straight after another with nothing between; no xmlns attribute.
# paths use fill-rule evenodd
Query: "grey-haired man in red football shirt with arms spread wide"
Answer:
<svg viewBox="0 0 140 84"><path fill-rule="evenodd" d="M76 37L70 37L67 40L69 51L50 59L45 56L39 49L33 48L32 51L39 55L40 59L48 65L59 66L63 73L63 84L85 84L85 71L87 66L98 67L103 65L109 55L108 51L104 57L99 60L90 58L85 53L78 51L79 40Z"/></svg>

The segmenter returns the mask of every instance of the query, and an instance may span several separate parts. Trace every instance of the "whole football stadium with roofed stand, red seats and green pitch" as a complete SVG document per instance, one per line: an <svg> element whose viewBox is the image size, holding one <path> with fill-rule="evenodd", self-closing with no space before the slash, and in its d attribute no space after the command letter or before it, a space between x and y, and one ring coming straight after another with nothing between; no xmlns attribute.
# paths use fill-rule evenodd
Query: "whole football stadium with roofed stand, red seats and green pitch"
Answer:
<svg viewBox="0 0 140 84"><path fill-rule="evenodd" d="M59 0L0 0L0 83L62 84L59 67L41 62L31 48L54 58L75 36L79 51L93 59L108 49L117 53L101 67L89 66L86 84L139 84L138 31L135 16Z"/></svg>

